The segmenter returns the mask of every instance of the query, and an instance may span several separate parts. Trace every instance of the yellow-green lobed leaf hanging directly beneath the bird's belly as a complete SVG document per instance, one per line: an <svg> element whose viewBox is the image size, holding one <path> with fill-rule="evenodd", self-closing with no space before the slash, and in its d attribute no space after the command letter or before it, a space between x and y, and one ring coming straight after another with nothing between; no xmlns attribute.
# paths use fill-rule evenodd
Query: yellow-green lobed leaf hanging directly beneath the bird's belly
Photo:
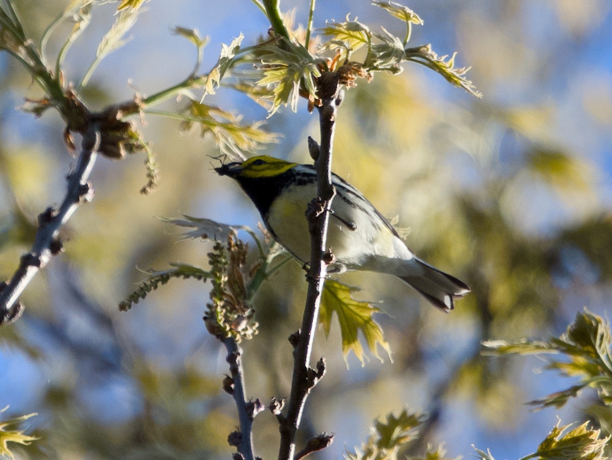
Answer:
<svg viewBox="0 0 612 460"><path fill-rule="evenodd" d="M372 317L379 310L368 302L354 300L353 294L357 291L355 287L346 286L335 280L327 280L321 297L319 322L323 325L326 335L329 335L332 315L334 312L337 314L345 359L348 353L353 351L360 362L364 363L364 349L359 342L359 332L364 335L372 355L382 361L378 353L378 345L380 345L390 358L391 350L389 344L384 340L383 330Z"/></svg>

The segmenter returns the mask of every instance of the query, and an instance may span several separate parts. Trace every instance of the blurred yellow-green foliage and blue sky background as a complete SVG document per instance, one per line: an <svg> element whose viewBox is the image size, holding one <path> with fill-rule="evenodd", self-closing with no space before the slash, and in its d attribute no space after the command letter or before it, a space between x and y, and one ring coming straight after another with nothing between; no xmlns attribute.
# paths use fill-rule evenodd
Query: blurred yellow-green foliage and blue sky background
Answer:
<svg viewBox="0 0 612 460"><path fill-rule="evenodd" d="M214 5L213 5L214 3ZM315 25L346 13L375 28L389 17L368 1L336 1L315 12ZM28 33L40 37L64 2L15 2ZM307 2L296 21L307 20ZM373 418L405 406L431 414L424 443L444 442L447 456L472 453L471 444L498 458L535 450L556 425L590 420L610 434L609 407L584 391L561 411L531 413L523 403L564 387L535 358L480 355L480 341L557 336L576 311L609 310L612 264L612 18L603 0L531 2L414 0L425 26L412 42L439 54L459 51L461 65L483 92L476 100L435 73L406 65L400 76L377 75L347 92L340 108L334 170L379 210L408 227L417 254L468 281L473 294L444 315L401 282L348 273L367 300L381 300L377 319L394 362L354 356L348 369L338 328L321 333L315 356L327 358L305 413L304 439L336 433L318 458L340 458L367 437ZM79 80L116 6L97 5L91 27L65 62ZM220 43L239 32L245 42L269 24L252 2L152 1L132 41L111 54L85 92L91 108L151 94L182 80L193 46L171 34L176 25L211 36L204 68ZM393 23L392 23L393 24ZM398 28L400 24L397 24ZM69 30L69 26L66 26ZM57 32L57 35L61 35ZM61 40L53 35L54 52ZM15 109L40 97L20 64L0 54L0 277L8 278L31 246L35 217L57 204L73 165L55 113L35 119ZM220 89L211 99L247 121L266 110L244 95ZM176 104L168 102L168 106ZM225 352L201 316L207 289L171 281L128 313L117 304L142 278L141 269L168 262L203 265L207 243L177 242L158 217L181 213L255 228L258 216L235 184L217 177L209 139L179 134L177 122L147 116L144 138L157 154L161 182L150 196L144 155L100 158L91 177L94 200L64 228L65 253L23 296L26 313L0 328L0 407L7 414L38 412L41 440L15 448L21 458L228 458L226 436L237 425L221 390ZM318 137L316 116L281 110L266 128L282 133L269 153L308 161L306 138ZM216 163L214 163L216 164ZM260 332L245 344L247 396L288 395L291 349L300 322L304 275L288 264L256 299ZM274 458L277 423L255 423L256 451ZM315 456L313 456L315 457Z"/></svg>

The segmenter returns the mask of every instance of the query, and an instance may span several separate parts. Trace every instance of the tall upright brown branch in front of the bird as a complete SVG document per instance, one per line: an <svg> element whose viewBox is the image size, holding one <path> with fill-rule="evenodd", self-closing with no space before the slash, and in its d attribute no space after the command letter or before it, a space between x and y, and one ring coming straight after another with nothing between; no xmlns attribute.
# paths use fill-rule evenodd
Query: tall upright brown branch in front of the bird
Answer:
<svg viewBox="0 0 612 460"><path fill-rule="evenodd" d="M308 293L302 317L302 328L293 352L293 378L289 395L287 415L280 425L279 460L292 460L296 449L296 432L304 411L304 404L310 390L325 373L325 362L319 360L317 369L310 368L310 355L318 324L321 292L327 274L327 264L333 255L327 253L327 226L329 210L335 195L332 185L332 145L338 104L340 102L340 76L336 72L326 72L319 78L319 128L321 146L315 160L317 176L317 197L307 209L308 229L310 231L310 269L308 269ZM311 152L315 149L310 147Z"/></svg>

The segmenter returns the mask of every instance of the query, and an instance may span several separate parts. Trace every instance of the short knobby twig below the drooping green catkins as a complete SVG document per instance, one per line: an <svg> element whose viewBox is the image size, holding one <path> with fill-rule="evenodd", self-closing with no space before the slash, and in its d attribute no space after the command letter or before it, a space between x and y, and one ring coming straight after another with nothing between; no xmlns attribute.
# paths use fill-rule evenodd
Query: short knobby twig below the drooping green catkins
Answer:
<svg viewBox="0 0 612 460"><path fill-rule="evenodd" d="M233 337L223 339L223 344L228 351L226 361L230 364L233 384L231 385L231 395L236 401L238 419L240 420L240 432L239 436L236 436L234 445L236 445L238 453L242 454L244 460L255 460L255 454L253 454L253 419L255 415L264 410L264 405L259 402L259 399L255 399L255 401L247 401L246 399L242 375L241 347Z"/></svg>

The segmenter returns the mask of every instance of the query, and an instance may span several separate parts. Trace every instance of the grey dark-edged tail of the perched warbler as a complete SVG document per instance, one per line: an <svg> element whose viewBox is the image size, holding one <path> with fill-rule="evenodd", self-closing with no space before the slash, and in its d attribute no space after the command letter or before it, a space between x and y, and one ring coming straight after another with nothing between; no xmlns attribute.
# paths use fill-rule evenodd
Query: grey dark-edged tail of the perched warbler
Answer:
<svg viewBox="0 0 612 460"><path fill-rule="evenodd" d="M441 272L420 259L414 258L412 261L417 262L419 270L414 270L415 273L408 276L400 276L400 279L414 287L419 294L439 309L452 310L453 299L463 297L470 292L469 286L455 276Z"/></svg>

